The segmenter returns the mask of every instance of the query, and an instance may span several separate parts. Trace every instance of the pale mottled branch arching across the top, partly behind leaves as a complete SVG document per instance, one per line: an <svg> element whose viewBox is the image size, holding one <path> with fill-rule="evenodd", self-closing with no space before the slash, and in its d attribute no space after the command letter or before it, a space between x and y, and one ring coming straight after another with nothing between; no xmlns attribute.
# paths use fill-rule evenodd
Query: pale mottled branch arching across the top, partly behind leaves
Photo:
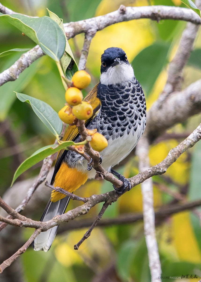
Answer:
<svg viewBox="0 0 201 282"><path fill-rule="evenodd" d="M3 7L3 5L0 6L2 11L4 9ZM8 8L6 8L6 13L15 14L15 12ZM143 18L156 21L159 21L160 19L175 19L201 24L200 17L191 9L187 8L170 6L124 7L123 5L121 5L117 11L108 13L104 16L98 16L78 22L65 23L64 28L68 39L73 38L80 33L86 34L87 40L83 47L80 68L85 67L89 43L91 40L90 38L93 38L97 31L115 23ZM19 74L23 72L26 67L29 67L31 63L43 55L44 53L38 45L30 51L24 53L13 66L0 74L0 86L8 81L16 80Z"/></svg>

